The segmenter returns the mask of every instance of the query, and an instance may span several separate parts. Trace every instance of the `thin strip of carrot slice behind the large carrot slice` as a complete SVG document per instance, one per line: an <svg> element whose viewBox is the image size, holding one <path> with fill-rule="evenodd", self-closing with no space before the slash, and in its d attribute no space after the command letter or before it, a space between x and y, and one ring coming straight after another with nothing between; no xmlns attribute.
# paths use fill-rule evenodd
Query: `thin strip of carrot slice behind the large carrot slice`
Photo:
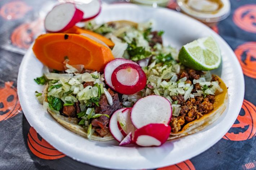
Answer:
<svg viewBox="0 0 256 170"><path fill-rule="evenodd" d="M114 45L115 45L111 40L107 39L106 37L104 37L100 34L97 34L95 32L89 31L87 29L77 27L77 26L74 26L74 27L68 29L67 31L65 31L65 33L73 33L73 34L85 33L85 34L89 34L95 38L98 38L99 40L103 41L109 47L114 47Z"/></svg>

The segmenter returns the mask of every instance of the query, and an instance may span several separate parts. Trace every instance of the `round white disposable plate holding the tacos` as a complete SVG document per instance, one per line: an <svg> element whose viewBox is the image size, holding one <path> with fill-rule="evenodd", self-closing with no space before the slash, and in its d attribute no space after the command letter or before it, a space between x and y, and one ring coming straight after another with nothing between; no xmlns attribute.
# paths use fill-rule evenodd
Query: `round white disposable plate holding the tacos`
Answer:
<svg viewBox="0 0 256 170"><path fill-rule="evenodd" d="M146 22L155 20L154 29L164 30L164 44L178 49L195 39L213 36L222 52L222 75L229 87L229 109L206 129L168 141L161 147L119 147L118 143L89 141L59 125L34 97L38 86L33 78L40 77L43 65L31 48L24 56L18 75L18 95L23 112L32 127L50 144L71 158L94 166L110 169L153 169L176 164L207 150L229 130L242 106L244 78L242 69L229 45L215 32L183 14L163 8L149 8L132 4L103 6L98 23L111 20Z"/></svg>

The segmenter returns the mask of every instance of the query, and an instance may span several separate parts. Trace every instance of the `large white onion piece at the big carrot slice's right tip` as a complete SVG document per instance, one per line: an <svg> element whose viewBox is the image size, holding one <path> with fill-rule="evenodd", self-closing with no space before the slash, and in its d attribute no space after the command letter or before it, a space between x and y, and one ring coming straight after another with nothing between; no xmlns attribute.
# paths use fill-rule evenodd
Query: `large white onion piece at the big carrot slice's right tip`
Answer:
<svg viewBox="0 0 256 170"><path fill-rule="evenodd" d="M115 43L114 48L112 49L112 54L115 58L123 58L124 51L128 47L128 43L122 42L116 36L111 36L111 41Z"/></svg>

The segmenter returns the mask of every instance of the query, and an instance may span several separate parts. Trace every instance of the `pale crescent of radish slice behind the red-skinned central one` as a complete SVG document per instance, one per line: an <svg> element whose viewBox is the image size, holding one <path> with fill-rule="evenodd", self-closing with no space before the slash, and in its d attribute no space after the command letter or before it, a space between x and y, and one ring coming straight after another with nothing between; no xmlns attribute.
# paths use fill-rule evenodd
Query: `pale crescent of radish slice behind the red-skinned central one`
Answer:
<svg viewBox="0 0 256 170"><path fill-rule="evenodd" d="M131 61L131 60L126 60L126 59L115 59L115 60L112 60L110 61L109 63L107 63L107 65L105 66L105 69L104 69L104 78L105 78L105 81L107 83L107 85L112 88L113 90L115 90L114 86L112 85L112 82L111 82L111 75L113 73L113 71L119 66L119 65L122 65L122 64L125 64L125 63L131 63L131 64L135 64L135 65L138 65L137 63Z"/></svg>

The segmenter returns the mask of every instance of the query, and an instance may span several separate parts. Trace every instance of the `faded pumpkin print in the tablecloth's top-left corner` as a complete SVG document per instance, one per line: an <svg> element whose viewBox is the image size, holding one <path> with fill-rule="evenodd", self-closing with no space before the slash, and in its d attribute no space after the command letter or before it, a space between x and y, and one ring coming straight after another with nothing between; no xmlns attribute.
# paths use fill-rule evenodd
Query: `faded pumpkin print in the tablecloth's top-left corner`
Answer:
<svg viewBox="0 0 256 170"><path fill-rule="evenodd" d="M32 9L23 1L13 1L4 4L0 9L0 15L4 19L19 19Z"/></svg>

